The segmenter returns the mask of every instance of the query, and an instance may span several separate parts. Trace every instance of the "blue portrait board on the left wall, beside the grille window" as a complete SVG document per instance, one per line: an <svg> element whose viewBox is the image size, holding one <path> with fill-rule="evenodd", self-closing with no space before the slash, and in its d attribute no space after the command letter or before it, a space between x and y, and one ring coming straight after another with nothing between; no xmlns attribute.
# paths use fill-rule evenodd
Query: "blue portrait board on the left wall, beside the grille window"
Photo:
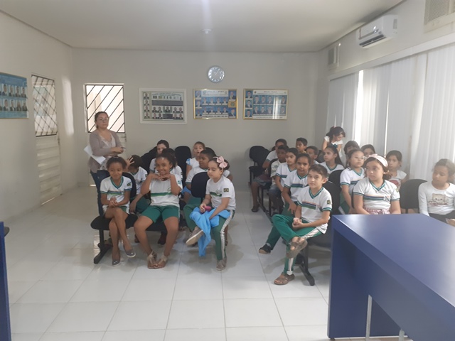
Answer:
<svg viewBox="0 0 455 341"><path fill-rule="evenodd" d="M0 73L0 119L28 119L26 78Z"/></svg>

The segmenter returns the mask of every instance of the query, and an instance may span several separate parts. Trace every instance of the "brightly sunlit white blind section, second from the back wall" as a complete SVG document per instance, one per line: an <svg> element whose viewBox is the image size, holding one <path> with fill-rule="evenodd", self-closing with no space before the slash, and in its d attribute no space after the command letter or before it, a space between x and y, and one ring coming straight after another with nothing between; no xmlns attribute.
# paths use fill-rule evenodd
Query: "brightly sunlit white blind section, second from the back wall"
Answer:
<svg viewBox="0 0 455 341"><path fill-rule="evenodd" d="M390 64L363 70L363 96L360 99L360 146L373 144L378 154L385 153L385 134L387 131L387 110Z"/></svg>

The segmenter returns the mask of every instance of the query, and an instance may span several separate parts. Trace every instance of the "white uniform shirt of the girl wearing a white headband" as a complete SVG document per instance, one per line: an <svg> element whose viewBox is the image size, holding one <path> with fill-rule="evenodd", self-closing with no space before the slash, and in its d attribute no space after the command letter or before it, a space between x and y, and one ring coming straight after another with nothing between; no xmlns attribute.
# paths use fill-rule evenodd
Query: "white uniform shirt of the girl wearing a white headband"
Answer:
<svg viewBox="0 0 455 341"><path fill-rule="evenodd" d="M363 178L354 186L354 195L363 196L363 206L370 210L390 209L390 202L400 200L400 192L395 183L384 180L377 188L370 179Z"/></svg>

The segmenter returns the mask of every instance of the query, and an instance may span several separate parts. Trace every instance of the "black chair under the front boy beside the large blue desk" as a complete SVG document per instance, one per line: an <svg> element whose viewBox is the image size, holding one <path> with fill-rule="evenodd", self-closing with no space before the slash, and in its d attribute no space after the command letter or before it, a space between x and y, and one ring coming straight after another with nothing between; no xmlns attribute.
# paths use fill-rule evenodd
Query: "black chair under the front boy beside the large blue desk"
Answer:
<svg viewBox="0 0 455 341"><path fill-rule="evenodd" d="M323 185L326 190L331 194L332 197L332 215L339 215L340 211L338 208L340 207L340 195L341 195L341 188L340 186L327 181ZM313 237L308 239L308 246L303 249L300 254L297 256L296 264L299 264L301 271L304 273L304 276L310 286L314 286L314 277L311 276L309 272L309 264L308 264L308 257L309 257L309 248L311 245L316 245L317 247L323 247L326 249L331 249L332 247L332 219L328 220L327 224L327 231L326 233L319 234L319 236Z"/></svg>

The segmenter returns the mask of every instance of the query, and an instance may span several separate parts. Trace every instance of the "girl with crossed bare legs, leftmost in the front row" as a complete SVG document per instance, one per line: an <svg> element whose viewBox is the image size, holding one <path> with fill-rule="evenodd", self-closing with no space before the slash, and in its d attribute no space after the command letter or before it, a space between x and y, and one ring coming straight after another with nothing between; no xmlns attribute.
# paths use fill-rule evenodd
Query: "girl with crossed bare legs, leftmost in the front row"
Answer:
<svg viewBox="0 0 455 341"><path fill-rule="evenodd" d="M109 178L102 180L100 185L102 209L109 222L109 233L112 238L112 266L120 264L119 239L128 257L136 256L127 237L125 220L129 213L129 193L132 180L122 175L127 163L123 158L114 156L106 163Z"/></svg>

